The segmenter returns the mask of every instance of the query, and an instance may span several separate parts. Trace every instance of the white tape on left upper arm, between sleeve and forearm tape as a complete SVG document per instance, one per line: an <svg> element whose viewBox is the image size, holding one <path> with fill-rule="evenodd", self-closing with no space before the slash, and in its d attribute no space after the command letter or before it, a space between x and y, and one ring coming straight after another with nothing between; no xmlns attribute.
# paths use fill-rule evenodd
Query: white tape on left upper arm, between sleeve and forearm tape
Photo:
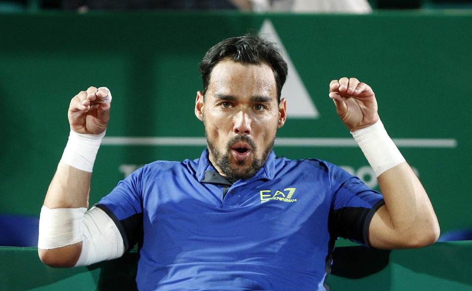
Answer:
<svg viewBox="0 0 472 291"><path fill-rule="evenodd" d="M123 238L115 222L100 208L90 208L84 216L82 252L75 266L117 259L123 254Z"/></svg>

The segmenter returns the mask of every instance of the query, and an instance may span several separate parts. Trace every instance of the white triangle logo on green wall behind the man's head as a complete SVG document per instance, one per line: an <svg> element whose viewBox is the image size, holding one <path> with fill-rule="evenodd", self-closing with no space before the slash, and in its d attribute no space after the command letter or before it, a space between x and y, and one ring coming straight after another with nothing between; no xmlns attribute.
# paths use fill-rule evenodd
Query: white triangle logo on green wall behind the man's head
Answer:
<svg viewBox="0 0 472 291"><path fill-rule="evenodd" d="M292 63L284 44L275 31L272 22L269 19L264 20L259 33L268 41L274 42L280 48L282 57L289 69L287 80L282 88L282 97L287 98L287 117L288 118L320 118L320 113L316 109L313 100L300 79L300 75Z"/></svg>

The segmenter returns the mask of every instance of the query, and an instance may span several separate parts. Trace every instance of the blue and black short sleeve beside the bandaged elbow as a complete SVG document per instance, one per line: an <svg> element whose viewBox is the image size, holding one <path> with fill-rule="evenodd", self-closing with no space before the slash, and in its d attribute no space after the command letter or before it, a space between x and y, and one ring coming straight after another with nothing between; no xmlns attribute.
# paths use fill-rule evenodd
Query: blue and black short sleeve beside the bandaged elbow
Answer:
<svg viewBox="0 0 472 291"><path fill-rule="evenodd" d="M142 183L145 171L146 166L136 170L95 204L117 225L126 252L136 244L143 228Z"/></svg>

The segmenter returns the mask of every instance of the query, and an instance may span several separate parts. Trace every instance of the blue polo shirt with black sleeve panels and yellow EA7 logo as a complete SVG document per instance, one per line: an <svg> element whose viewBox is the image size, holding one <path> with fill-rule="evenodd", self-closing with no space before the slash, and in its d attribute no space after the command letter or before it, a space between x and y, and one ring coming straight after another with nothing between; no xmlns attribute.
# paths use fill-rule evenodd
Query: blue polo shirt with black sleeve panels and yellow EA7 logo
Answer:
<svg viewBox="0 0 472 291"><path fill-rule="evenodd" d="M368 244L383 204L320 160L271 152L254 177L233 185L210 179L212 171L207 149L194 161L152 162L97 204L127 250L138 242L139 290L325 290L334 240Z"/></svg>

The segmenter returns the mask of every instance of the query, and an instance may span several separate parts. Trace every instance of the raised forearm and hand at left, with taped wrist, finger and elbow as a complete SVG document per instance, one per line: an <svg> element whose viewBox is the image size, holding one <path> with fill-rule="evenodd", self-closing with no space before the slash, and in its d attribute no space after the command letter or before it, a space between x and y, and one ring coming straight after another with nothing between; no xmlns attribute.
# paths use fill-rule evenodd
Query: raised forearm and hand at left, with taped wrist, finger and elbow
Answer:
<svg viewBox="0 0 472 291"><path fill-rule="evenodd" d="M39 258L50 266L72 267L81 254L82 233L77 237L77 227L89 207L92 166L110 119L110 100L108 89L90 87L70 101L69 142L40 218Z"/></svg>

